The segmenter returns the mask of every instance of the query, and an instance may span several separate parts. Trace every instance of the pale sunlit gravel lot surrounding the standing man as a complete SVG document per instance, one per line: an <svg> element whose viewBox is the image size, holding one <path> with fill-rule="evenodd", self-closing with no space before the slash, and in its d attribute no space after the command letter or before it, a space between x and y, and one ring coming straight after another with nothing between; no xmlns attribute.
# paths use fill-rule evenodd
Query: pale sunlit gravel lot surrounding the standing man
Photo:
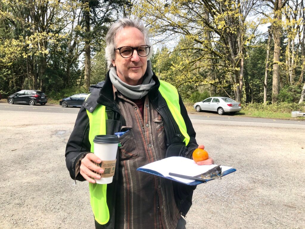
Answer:
<svg viewBox="0 0 305 229"><path fill-rule="evenodd" d="M0 110L0 228L94 228L88 184L65 165L76 116ZM197 187L188 229L305 228L305 125L192 122L215 162L237 171Z"/></svg>

